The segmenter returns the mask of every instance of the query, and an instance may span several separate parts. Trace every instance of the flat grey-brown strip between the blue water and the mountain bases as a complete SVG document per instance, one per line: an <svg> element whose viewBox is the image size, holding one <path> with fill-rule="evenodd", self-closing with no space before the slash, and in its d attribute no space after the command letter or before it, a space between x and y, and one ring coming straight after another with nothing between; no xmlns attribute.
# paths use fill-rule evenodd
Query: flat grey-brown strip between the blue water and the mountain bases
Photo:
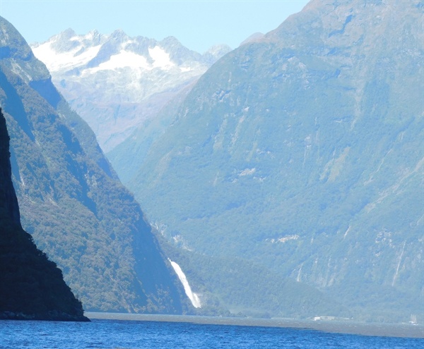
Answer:
<svg viewBox="0 0 424 349"><path fill-rule="evenodd" d="M112 312L86 312L85 315L89 319L287 327L292 329L313 329L332 333L359 334L361 336L424 338L424 326L414 326L411 324L367 324L351 320L339 322L336 320L313 321L296 319L254 319L251 317L206 317L192 315L126 314Z"/></svg>

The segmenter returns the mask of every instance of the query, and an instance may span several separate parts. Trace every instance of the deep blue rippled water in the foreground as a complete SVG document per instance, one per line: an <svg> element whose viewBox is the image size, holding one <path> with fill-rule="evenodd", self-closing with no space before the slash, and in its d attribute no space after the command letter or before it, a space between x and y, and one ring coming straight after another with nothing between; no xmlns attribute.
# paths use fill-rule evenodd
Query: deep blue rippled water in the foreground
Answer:
<svg viewBox="0 0 424 349"><path fill-rule="evenodd" d="M220 324L211 324L213 319ZM254 326L252 319L240 319L237 325L232 321L146 315L89 323L2 320L0 348L424 348L423 338L331 333L264 325L266 320L257 320L260 326ZM247 326L243 321L249 322Z"/></svg>

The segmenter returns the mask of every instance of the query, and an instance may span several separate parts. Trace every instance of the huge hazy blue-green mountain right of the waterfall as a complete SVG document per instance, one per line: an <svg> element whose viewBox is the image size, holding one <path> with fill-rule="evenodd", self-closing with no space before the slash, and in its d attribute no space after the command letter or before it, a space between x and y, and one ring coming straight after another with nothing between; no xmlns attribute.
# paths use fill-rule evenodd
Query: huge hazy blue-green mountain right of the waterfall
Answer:
<svg viewBox="0 0 424 349"><path fill-rule="evenodd" d="M113 150L194 290L287 316L275 276L423 322L423 6L312 0L209 68L153 145Z"/></svg>

